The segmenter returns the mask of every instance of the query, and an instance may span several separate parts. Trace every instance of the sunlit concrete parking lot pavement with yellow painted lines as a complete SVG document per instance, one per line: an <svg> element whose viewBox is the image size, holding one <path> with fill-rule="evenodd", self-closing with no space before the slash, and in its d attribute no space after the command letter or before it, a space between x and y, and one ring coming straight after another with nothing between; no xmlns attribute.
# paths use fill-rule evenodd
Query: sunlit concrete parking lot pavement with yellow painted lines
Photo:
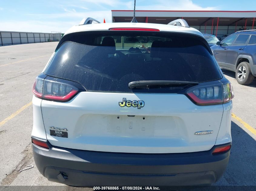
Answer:
<svg viewBox="0 0 256 191"><path fill-rule="evenodd" d="M31 131L32 84L58 42L0 47L0 185L62 185L49 182L35 167ZM256 186L256 78L249 86L237 83L235 73L223 70L235 97L230 162L218 186ZM19 172L27 165L34 168ZM69 186L61 187L70 190ZM72 190L75 188L73 187ZM92 190L92 188L88 188Z"/></svg>

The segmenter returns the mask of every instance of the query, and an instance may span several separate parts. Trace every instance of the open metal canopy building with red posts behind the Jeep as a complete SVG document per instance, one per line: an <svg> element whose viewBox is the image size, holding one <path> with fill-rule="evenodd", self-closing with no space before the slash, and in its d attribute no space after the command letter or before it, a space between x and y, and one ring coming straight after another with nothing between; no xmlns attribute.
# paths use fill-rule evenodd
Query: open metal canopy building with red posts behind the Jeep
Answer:
<svg viewBox="0 0 256 191"><path fill-rule="evenodd" d="M132 17L133 10L112 10L112 22L130 22ZM256 29L256 11L136 11L136 19L142 23L168 24L179 18L185 19L190 27L217 37Z"/></svg>

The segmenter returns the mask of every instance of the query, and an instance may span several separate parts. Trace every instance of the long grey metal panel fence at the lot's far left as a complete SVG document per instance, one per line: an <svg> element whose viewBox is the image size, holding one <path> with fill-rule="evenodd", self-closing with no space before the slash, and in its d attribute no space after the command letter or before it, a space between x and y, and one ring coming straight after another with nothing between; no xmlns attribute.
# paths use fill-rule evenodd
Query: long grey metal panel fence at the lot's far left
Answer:
<svg viewBox="0 0 256 191"><path fill-rule="evenodd" d="M0 46L60 41L61 33L0 31Z"/></svg>

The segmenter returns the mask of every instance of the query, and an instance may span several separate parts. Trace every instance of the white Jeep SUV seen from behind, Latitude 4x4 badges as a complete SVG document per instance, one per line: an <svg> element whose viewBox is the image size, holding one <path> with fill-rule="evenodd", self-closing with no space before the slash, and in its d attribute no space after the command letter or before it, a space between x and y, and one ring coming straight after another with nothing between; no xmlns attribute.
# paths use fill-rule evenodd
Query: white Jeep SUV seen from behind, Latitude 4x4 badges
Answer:
<svg viewBox="0 0 256 191"><path fill-rule="evenodd" d="M73 186L219 180L234 92L202 33L184 20L93 21L69 29L35 79L40 173Z"/></svg>

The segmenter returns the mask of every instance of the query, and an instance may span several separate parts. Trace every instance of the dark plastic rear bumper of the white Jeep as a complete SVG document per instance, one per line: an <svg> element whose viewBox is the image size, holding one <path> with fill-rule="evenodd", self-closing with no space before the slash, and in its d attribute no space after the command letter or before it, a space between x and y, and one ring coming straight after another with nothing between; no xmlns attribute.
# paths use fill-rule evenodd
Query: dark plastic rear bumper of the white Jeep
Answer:
<svg viewBox="0 0 256 191"><path fill-rule="evenodd" d="M230 154L228 151L212 155L217 146L209 151L193 153L133 154L51 145L48 150L32 145L40 173L50 181L73 186L209 185L220 179Z"/></svg>

